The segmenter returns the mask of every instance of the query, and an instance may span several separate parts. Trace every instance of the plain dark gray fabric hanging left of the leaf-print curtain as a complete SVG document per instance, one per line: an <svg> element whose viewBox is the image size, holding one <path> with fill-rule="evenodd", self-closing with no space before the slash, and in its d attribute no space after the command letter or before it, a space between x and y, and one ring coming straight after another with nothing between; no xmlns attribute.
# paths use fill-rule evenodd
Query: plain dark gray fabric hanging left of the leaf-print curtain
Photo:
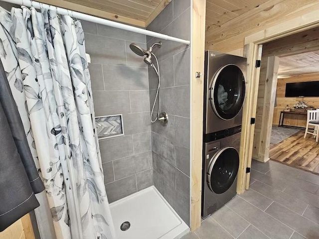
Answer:
<svg viewBox="0 0 319 239"><path fill-rule="evenodd" d="M39 206L44 190L0 63L0 231Z"/></svg>

